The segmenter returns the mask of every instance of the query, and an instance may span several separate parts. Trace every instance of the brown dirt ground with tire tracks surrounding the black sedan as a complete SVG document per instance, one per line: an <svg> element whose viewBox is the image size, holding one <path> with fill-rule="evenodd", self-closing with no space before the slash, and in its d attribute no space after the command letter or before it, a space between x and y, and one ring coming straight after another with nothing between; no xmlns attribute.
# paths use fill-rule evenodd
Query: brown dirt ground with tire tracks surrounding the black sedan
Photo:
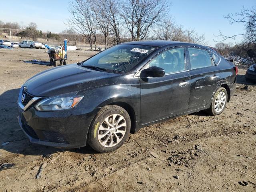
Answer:
<svg viewBox="0 0 256 192"><path fill-rule="evenodd" d="M96 52L68 53L74 63ZM154 124L130 134L118 150L97 154L89 146L31 144L23 134L19 88L52 68L24 62L33 59L48 61L46 50L0 50L0 165L15 164L0 170L0 191L256 191L256 84L245 81L246 69L239 69L237 91L220 116L197 112Z"/></svg>

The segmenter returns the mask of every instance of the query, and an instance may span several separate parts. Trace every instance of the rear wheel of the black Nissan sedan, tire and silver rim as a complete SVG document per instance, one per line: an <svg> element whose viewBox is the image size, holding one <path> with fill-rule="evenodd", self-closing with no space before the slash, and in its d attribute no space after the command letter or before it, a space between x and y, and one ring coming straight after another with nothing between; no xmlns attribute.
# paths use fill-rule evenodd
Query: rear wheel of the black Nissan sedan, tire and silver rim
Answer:
<svg viewBox="0 0 256 192"><path fill-rule="evenodd" d="M225 99L224 99L225 98ZM228 92L224 87L218 88L215 92L210 108L206 110L212 116L220 115L226 108Z"/></svg>

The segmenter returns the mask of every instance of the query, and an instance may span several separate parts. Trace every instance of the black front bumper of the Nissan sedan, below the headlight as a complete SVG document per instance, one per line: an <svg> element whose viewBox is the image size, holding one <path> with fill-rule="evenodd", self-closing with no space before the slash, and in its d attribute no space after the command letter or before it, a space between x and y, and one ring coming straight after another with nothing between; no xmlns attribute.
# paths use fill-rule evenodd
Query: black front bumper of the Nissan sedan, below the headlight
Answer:
<svg viewBox="0 0 256 192"><path fill-rule="evenodd" d="M20 127L30 142L57 148L78 148L86 145L88 129L96 110L82 112L73 108L40 112L31 107L24 111L18 105L18 114Z"/></svg>

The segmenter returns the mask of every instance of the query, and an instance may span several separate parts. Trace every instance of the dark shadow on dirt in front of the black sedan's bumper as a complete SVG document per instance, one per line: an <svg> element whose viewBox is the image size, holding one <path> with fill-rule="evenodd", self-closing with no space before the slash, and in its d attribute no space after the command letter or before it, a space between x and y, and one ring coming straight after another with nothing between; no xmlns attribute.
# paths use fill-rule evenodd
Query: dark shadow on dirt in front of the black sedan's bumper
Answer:
<svg viewBox="0 0 256 192"><path fill-rule="evenodd" d="M46 155L59 151L70 151L81 154L95 154L90 146L78 149L59 149L38 144L32 144L21 130L17 116L17 99L20 89L12 89L0 95L0 149L24 155ZM8 143L9 142L9 143ZM4 143L8 143L2 145ZM4 158L4 157L2 157Z"/></svg>

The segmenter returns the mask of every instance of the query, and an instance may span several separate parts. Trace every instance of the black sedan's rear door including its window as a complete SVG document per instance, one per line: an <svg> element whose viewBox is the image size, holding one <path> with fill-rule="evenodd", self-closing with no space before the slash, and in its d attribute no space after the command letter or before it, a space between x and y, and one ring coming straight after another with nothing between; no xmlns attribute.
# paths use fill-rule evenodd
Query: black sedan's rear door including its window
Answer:
<svg viewBox="0 0 256 192"><path fill-rule="evenodd" d="M221 73L206 49L187 48L190 58L191 92L188 110L200 109L211 101Z"/></svg>

